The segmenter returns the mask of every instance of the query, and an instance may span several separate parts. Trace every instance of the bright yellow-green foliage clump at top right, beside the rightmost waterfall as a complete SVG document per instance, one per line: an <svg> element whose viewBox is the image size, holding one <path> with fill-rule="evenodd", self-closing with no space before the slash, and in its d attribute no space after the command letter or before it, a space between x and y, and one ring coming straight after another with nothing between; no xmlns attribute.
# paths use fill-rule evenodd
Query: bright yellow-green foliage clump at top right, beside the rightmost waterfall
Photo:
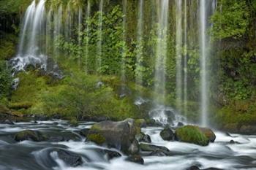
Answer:
<svg viewBox="0 0 256 170"><path fill-rule="evenodd" d="M211 21L214 23L211 34L215 39L241 38L249 26L246 0L218 1L217 12L211 17Z"/></svg>

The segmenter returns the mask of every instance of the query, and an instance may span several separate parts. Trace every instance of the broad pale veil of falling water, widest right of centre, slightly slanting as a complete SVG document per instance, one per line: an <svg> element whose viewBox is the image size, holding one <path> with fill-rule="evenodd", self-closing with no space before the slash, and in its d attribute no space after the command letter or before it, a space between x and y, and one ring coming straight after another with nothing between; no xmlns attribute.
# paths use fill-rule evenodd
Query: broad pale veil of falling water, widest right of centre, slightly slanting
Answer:
<svg viewBox="0 0 256 170"><path fill-rule="evenodd" d="M165 98L165 63L167 55L167 31L169 0L160 2L159 28L157 38L157 52L155 62L154 90L157 96L161 94ZM159 98L155 98L159 102Z"/></svg>

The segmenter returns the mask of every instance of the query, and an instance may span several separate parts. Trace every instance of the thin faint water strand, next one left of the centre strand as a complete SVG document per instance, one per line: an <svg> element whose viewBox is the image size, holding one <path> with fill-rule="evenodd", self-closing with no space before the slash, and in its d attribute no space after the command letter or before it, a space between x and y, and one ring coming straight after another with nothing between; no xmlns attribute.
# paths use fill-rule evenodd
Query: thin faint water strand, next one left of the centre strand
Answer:
<svg viewBox="0 0 256 170"><path fill-rule="evenodd" d="M99 2L99 31L98 31L98 42L97 42L97 72L99 72L102 66L102 11L103 10L103 0Z"/></svg>

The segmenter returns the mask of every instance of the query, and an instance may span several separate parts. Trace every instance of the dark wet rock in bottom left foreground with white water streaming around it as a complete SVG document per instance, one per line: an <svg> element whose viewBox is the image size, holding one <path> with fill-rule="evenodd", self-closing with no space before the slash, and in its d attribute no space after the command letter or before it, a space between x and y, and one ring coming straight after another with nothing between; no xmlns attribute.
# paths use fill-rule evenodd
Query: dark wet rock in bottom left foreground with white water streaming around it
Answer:
<svg viewBox="0 0 256 170"><path fill-rule="evenodd" d="M61 150L61 149L54 149L53 152L57 152L59 159L64 161L64 163L66 163L67 166L76 167L83 164L83 161L80 155L77 155L73 152L69 152L67 150Z"/></svg>

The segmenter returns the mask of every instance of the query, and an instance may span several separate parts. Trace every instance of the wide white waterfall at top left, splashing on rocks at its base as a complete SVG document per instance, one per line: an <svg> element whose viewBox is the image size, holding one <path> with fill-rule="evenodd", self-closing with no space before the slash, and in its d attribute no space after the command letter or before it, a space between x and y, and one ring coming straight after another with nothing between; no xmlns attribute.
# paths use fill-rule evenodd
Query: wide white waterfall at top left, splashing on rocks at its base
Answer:
<svg viewBox="0 0 256 170"><path fill-rule="evenodd" d="M12 59L15 70L24 70L29 64L39 64L46 69L47 56L43 55L43 39L37 37L45 35L43 31L45 22L45 0L40 0L38 4L33 1L26 10L23 28L20 34L20 44L18 54Z"/></svg>

